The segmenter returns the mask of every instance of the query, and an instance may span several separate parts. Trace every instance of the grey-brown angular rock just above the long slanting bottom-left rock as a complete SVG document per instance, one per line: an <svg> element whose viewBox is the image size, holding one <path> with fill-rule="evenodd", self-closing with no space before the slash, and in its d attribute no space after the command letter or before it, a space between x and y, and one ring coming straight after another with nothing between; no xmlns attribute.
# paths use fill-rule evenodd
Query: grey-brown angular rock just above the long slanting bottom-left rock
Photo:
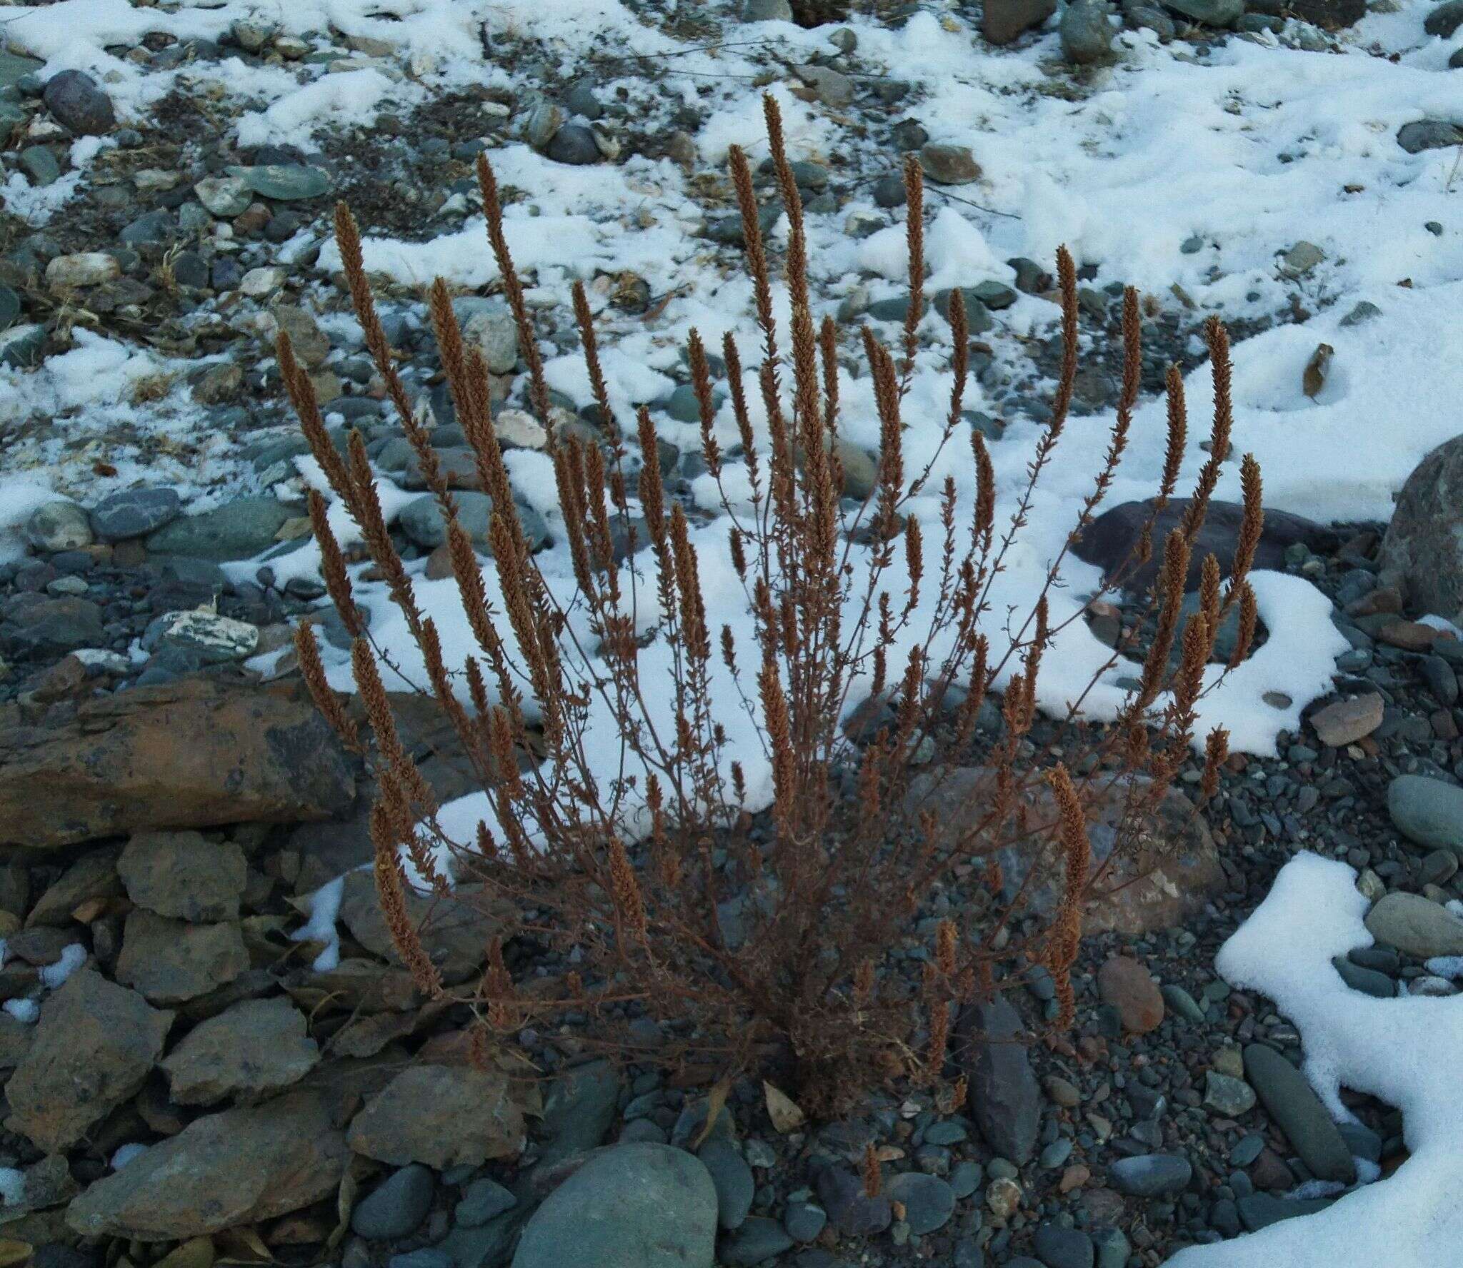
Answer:
<svg viewBox="0 0 1463 1268"><path fill-rule="evenodd" d="M162 1069L176 1104L212 1106L225 1097L262 1100L303 1079L319 1056L304 1014L277 996L246 999L199 1022Z"/></svg>

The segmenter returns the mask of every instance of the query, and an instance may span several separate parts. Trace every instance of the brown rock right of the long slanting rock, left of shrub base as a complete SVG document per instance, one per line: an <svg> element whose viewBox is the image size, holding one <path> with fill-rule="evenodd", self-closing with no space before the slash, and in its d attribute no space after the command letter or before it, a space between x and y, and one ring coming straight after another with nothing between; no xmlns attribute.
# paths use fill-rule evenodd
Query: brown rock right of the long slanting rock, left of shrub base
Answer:
<svg viewBox="0 0 1463 1268"><path fill-rule="evenodd" d="M489 1158L518 1155L524 1114L500 1073L470 1066L411 1066L356 1116L350 1145L394 1167L481 1166Z"/></svg>

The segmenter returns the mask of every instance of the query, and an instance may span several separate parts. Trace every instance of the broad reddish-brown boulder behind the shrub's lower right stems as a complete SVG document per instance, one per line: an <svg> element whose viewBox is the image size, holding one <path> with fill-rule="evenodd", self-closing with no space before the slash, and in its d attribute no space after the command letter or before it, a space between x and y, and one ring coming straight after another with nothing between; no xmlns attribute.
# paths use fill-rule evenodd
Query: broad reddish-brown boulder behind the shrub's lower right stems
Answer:
<svg viewBox="0 0 1463 1268"><path fill-rule="evenodd" d="M907 809L913 813L932 810L939 844L949 848L963 829L979 820L993 791L995 772L990 768L958 766L916 777L907 794ZM1084 933L1112 930L1138 937L1172 929L1203 910L1225 888L1225 869L1214 838L1203 816L1195 813L1194 803L1178 788L1170 788L1157 813L1138 825L1124 822L1121 785L1103 785L1093 791L1078 785L1078 793L1087 810L1094 872L1129 837L1129 844L1112 863L1099 892L1084 910ZM1055 818L1056 806L1046 784L1030 790L1026 800L1036 822ZM1056 854L1055 844L1046 850L1007 845L996 853L1005 892L1012 897L1036 867L1039 880L1026 892L1024 913L1045 917L1061 901L1062 869Z"/></svg>

